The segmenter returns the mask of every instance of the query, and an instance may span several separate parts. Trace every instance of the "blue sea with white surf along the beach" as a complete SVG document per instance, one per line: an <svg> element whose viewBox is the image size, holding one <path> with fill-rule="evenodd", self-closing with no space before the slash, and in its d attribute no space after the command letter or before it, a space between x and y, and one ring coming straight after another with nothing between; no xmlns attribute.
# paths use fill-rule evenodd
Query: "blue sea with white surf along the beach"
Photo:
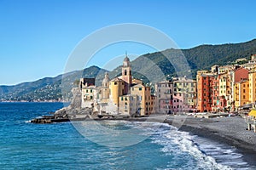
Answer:
<svg viewBox="0 0 256 170"><path fill-rule="evenodd" d="M166 123L29 122L62 107L0 103L0 169L255 169L235 147ZM121 135L113 137L101 127L95 130L95 124ZM125 143L127 132L136 134L136 142Z"/></svg>

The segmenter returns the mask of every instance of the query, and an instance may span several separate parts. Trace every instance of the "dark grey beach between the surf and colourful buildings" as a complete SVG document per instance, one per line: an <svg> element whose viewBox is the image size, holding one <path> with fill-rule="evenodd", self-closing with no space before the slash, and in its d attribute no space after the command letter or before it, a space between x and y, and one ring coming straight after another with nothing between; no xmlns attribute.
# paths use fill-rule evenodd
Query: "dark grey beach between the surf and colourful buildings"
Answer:
<svg viewBox="0 0 256 170"><path fill-rule="evenodd" d="M153 117L158 119L157 116ZM165 122L178 127L180 131L235 146L244 155L245 161L256 166L256 133L247 131L247 123L239 116L211 119L166 116Z"/></svg>

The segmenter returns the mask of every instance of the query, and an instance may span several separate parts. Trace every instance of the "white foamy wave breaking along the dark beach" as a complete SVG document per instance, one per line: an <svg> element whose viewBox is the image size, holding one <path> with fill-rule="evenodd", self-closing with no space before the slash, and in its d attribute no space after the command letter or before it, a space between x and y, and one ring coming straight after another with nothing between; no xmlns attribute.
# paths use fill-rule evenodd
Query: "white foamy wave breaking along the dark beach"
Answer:
<svg viewBox="0 0 256 170"><path fill-rule="evenodd" d="M161 151L166 155L175 155L180 160L178 156L183 157L184 153L187 153L195 159L196 167L186 167L186 169L249 169L247 162L242 160L242 155L231 146L178 131L177 127L166 123L154 122L153 128L155 133L151 138L152 142L162 145ZM193 163L195 164L191 161L191 165Z"/></svg>

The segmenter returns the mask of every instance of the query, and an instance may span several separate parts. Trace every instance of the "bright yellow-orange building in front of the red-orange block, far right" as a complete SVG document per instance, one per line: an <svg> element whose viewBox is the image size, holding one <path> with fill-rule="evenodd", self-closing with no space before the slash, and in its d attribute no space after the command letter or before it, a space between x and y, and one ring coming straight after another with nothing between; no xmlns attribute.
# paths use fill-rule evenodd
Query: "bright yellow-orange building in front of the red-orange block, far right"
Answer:
<svg viewBox="0 0 256 170"><path fill-rule="evenodd" d="M234 87L234 101L235 107L240 107L242 105L247 105L250 103L249 100L249 81L242 80L241 82L236 82Z"/></svg>

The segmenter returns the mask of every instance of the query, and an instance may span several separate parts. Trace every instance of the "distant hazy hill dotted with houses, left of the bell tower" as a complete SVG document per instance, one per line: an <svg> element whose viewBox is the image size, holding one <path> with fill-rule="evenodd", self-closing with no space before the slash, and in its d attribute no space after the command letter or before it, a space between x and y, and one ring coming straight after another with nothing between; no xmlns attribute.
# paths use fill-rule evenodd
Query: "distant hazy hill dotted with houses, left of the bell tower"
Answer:
<svg viewBox="0 0 256 170"><path fill-rule="evenodd" d="M79 80L80 77L99 77L102 78L103 72L97 66L90 66L83 71L73 71L57 77L47 77L35 82L23 82L15 86L0 86L0 99L1 100L58 100L61 99L61 82L67 82L67 90L63 92L67 98L70 98L71 88L75 86L74 82ZM99 75L99 76L97 76Z"/></svg>

